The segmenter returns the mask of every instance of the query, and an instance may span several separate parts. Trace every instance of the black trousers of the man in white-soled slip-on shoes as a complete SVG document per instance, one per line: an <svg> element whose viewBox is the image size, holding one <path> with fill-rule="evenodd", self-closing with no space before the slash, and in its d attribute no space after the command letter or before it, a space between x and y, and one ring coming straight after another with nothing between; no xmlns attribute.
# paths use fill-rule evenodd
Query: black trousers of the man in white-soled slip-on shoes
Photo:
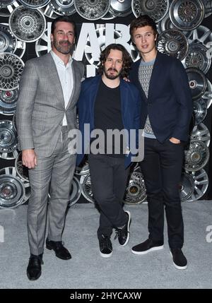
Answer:
<svg viewBox="0 0 212 303"><path fill-rule="evenodd" d="M156 139L145 138L144 144L144 160L140 165L148 200L149 238L163 241L165 206L169 245L171 248L182 248L184 225L178 184L184 143L175 144L169 140L160 143Z"/></svg>

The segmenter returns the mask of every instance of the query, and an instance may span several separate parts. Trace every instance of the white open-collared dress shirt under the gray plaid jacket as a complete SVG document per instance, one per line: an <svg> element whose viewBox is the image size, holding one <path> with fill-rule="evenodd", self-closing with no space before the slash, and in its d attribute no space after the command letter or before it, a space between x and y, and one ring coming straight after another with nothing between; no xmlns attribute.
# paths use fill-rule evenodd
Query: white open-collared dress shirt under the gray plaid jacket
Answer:
<svg viewBox="0 0 212 303"><path fill-rule="evenodd" d="M64 64L64 61L62 61L57 54L55 54L52 50L51 50L51 54L52 54L52 58L54 59L54 63L56 64L57 67L57 73L59 76L59 80L61 83L61 88L63 90L63 95L64 95L64 102L65 102L65 108L67 107L68 103L69 103L69 99L71 97L71 93L73 90L73 72L72 72L72 61L73 59L69 58L69 62L68 64ZM64 119L63 119L63 123L62 125L67 125L67 121L66 121L66 114L64 114Z"/></svg>

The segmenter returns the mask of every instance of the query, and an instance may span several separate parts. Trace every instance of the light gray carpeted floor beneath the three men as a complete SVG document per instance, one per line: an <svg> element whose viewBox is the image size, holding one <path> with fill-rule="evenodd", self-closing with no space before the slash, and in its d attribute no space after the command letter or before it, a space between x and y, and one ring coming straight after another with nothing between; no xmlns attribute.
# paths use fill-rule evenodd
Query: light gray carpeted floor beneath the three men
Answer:
<svg viewBox="0 0 212 303"><path fill-rule="evenodd" d="M143 256L131 254L131 246L146 239L147 204L125 206L131 212L131 238L127 246L112 239L113 255L104 259L98 251L96 230L98 211L93 204L75 204L69 209L64 242L72 259L57 259L45 249L42 275L29 281L27 206L0 210L0 288L211 288L212 287L212 201L183 203L185 244L188 268L179 271L172 265L167 245ZM206 231L208 227L208 231ZM207 236L208 234L208 236ZM207 242L208 239L208 242Z"/></svg>

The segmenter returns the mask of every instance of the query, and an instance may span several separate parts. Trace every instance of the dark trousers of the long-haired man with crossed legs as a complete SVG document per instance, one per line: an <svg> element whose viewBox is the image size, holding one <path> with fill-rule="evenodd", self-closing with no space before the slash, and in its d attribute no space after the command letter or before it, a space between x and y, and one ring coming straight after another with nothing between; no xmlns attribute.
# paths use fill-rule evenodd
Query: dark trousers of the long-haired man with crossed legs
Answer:
<svg viewBox="0 0 212 303"><path fill-rule="evenodd" d="M110 237L113 227L122 227L127 221L123 198L129 168L124 168L124 158L108 155L88 155L91 186L95 201L100 207L98 239L102 234Z"/></svg>

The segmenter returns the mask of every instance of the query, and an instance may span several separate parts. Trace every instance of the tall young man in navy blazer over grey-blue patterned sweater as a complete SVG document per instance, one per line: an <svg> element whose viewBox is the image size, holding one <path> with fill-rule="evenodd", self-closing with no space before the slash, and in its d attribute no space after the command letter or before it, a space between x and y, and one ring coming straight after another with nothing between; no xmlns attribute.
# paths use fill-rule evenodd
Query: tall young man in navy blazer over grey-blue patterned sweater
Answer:
<svg viewBox="0 0 212 303"><path fill-rule="evenodd" d="M131 39L141 59L131 69L130 80L141 93L141 129L144 129L144 160L140 162L148 199L148 232L134 254L163 249L164 206L167 234L175 268L187 268L182 253L184 225L178 184L189 135L192 96L187 73L174 57L157 52L157 28L149 16L130 25Z"/></svg>

